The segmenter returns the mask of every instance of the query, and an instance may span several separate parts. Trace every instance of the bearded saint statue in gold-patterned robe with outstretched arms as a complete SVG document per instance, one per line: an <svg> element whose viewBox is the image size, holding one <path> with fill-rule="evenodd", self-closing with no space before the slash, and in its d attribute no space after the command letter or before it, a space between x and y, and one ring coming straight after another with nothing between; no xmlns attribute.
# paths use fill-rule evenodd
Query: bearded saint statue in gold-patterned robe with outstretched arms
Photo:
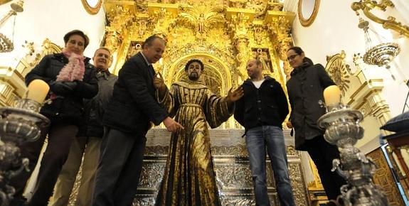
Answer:
<svg viewBox="0 0 409 206"><path fill-rule="evenodd" d="M155 77L159 103L184 126L171 134L156 205L221 205L207 123L216 128L228 120L233 114L233 102L243 96L243 90L230 89L227 97L218 97L204 85L202 71L200 60L188 61L186 76L170 91L161 77Z"/></svg>

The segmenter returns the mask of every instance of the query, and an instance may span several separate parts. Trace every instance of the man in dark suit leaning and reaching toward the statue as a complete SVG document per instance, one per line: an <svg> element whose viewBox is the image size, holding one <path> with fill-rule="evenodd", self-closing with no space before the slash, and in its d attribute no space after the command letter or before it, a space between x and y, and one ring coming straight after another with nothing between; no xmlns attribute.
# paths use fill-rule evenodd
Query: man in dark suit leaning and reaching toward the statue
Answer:
<svg viewBox="0 0 409 206"><path fill-rule="evenodd" d="M114 92L105 110L100 163L95 176L92 205L132 205L142 170L147 131L152 121L166 129L183 129L155 101L154 68L164 53L159 36L145 40L143 50L119 70Z"/></svg>

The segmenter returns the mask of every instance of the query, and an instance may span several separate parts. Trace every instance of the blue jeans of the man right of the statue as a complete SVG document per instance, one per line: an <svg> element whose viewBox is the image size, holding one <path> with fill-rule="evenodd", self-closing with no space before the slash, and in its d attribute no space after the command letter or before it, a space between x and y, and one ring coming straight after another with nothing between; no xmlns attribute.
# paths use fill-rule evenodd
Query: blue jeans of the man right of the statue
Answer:
<svg viewBox="0 0 409 206"><path fill-rule="evenodd" d="M256 205L270 205L267 195L265 148L274 171L275 186L281 205L295 205L287 166L284 135L278 126L259 126L249 129L245 144L248 150Z"/></svg>

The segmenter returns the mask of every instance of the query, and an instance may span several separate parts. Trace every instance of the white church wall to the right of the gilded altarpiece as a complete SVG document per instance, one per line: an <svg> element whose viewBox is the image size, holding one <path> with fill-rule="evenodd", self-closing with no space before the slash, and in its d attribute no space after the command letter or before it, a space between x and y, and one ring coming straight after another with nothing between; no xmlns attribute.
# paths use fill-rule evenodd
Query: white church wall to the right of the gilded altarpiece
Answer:
<svg viewBox="0 0 409 206"><path fill-rule="evenodd" d="M388 13L376 12L376 15L395 16L397 21L407 23L405 15L400 14L400 11L409 8L408 1L398 1L399 9L388 8ZM286 1L285 9L297 13L298 1ZM352 1L321 1L317 18L309 27L304 27L299 22L298 16L292 24L292 38L294 45L301 47L306 56L311 58L314 63L321 63L326 65L326 55L334 55L344 50L346 53L346 63L351 66L351 72L358 70L353 63L353 57L356 53L365 53L365 39L363 30L358 28L358 16L351 9ZM398 6L397 4L397 6ZM361 65L363 74L366 80L381 79L383 80L383 89L381 90L381 97L385 99L389 105L391 116L396 116L402 112L408 87L406 87L404 80L409 78L409 38L400 37L391 30L386 30L378 23L366 18L360 11L361 17L369 21L370 35L373 45L379 43L394 42L400 45L400 54L391 65L391 72L395 76L395 80L391 77L391 73L385 67ZM406 19L407 20L407 19ZM376 33L371 33L371 30ZM351 74L351 78L356 78ZM351 80L349 91L347 95L354 93L363 82ZM357 101L363 101L358 99ZM344 98L344 103L349 102L349 97ZM376 122L373 116L366 116L363 122L363 127L366 129L366 134L363 139L358 141L357 146L365 146L371 143L373 139L378 139L381 131L378 127L381 126ZM376 148L376 146L375 146ZM375 148L367 148L369 152Z"/></svg>

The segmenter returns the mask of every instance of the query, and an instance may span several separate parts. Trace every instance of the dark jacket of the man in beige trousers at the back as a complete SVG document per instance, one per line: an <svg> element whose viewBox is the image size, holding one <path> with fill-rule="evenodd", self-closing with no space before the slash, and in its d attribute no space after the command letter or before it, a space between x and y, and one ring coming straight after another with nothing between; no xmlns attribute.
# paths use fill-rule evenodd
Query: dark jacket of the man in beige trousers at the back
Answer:
<svg viewBox="0 0 409 206"><path fill-rule="evenodd" d="M85 99L84 124L80 128L79 136L102 137L104 126L102 117L107 108L108 101L112 97L112 90L118 77L109 71L97 72L98 94L92 99Z"/></svg>

